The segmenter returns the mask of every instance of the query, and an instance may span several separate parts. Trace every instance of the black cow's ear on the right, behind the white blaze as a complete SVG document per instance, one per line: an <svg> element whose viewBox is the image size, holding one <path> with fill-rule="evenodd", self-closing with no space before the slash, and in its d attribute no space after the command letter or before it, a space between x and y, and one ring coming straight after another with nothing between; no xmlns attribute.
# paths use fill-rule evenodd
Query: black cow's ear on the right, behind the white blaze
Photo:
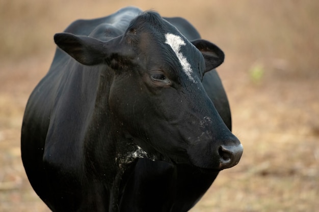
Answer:
<svg viewBox="0 0 319 212"><path fill-rule="evenodd" d="M204 56L206 66L205 72L215 69L224 62L224 52L214 43L198 39L192 41L192 44L196 46Z"/></svg>

